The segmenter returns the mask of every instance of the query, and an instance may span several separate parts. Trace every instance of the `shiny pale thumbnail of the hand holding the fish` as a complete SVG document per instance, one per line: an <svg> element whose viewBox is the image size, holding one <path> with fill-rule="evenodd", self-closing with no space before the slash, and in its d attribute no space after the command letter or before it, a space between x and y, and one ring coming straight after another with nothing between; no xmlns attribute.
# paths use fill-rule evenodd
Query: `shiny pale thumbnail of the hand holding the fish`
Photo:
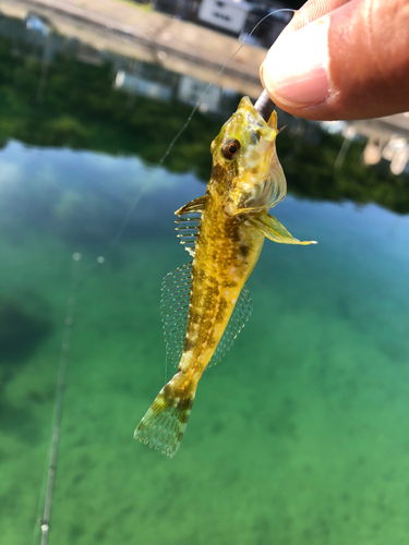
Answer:
<svg viewBox="0 0 409 545"><path fill-rule="evenodd" d="M261 71L273 98L305 107L329 97L328 28L329 17L322 17L274 44Z"/></svg>

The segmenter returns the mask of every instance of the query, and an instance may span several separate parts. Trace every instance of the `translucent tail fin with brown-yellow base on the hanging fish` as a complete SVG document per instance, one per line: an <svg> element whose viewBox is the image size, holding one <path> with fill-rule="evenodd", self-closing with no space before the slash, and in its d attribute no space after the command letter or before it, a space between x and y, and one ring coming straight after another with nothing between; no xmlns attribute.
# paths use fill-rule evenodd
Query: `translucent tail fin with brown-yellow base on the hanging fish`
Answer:
<svg viewBox="0 0 409 545"><path fill-rule="evenodd" d="M194 393L190 398L176 397L167 384L139 423L134 438L172 458L182 440L193 401Z"/></svg>

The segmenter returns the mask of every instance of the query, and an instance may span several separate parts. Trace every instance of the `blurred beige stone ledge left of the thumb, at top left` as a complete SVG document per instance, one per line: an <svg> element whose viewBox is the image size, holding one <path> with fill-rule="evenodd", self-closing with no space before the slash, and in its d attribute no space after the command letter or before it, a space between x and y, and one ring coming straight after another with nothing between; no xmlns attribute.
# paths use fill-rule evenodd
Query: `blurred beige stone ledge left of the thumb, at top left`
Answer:
<svg viewBox="0 0 409 545"><path fill-rule="evenodd" d="M2 0L0 10L21 19L35 11L51 19L58 33L96 49L159 63L207 83L240 46L216 31L112 0ZM263 48L244 45L217 77L217 85L257 97L265 53Z"/></svg>

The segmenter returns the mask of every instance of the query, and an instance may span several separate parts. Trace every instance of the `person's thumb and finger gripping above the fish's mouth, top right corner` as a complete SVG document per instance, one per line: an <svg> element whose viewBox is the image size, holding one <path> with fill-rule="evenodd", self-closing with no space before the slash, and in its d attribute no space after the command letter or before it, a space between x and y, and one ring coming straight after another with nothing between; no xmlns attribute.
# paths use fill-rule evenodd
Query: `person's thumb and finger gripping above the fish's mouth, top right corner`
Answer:
<svg viewBox="0 0 409 545"><path fill-rule="evenodd" d="M409 110L409 1L309 0L261 66L269 97L305 119Z"/></svg>

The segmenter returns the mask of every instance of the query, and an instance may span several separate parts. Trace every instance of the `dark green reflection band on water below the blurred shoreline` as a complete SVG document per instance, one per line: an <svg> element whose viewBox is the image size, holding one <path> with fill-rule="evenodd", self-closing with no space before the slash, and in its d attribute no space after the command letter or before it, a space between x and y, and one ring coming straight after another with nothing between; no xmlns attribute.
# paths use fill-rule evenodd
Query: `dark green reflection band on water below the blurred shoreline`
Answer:
<svg viewBox="0 0 409 545"><path fill-rule="evenodd" d="M159 65L28 31L19 20L3 17L0 24L3 36L14 36L0 40L3 142L14 137L29 145L132 154L157 162L206 87ZM177 142L167 168L194 170L207 181L209 143L239 98L214 86L203 100L202 113L193 117ZM352 142L346 153L342 148L339 161L340 136L284 113L279 120L288 125L280 133L278 152L291 179L290 192L336 202L375 202L408 211L408 178L390 175L386 164L363 165L363 143Z"/></svg>

